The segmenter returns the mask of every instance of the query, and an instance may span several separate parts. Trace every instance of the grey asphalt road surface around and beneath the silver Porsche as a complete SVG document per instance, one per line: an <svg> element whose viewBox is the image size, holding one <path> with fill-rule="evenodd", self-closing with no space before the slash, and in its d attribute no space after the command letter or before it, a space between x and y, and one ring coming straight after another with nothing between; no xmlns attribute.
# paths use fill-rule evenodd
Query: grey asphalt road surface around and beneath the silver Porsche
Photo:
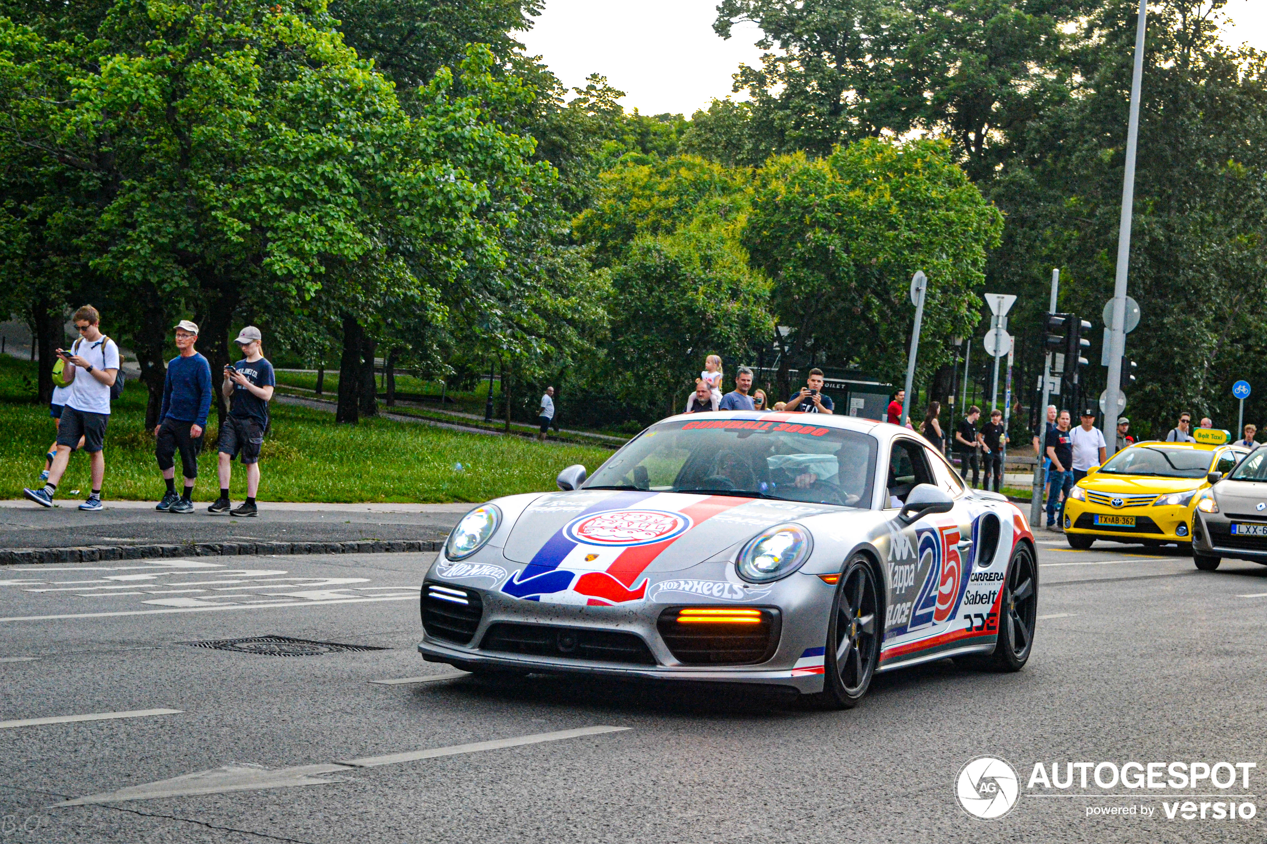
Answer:
<svg viewBox="0 0 1267 844"><path fill-rule="evenodd" d="M1263 802L1267 568L1225 562L1206 573L1177 552L1072 552L1063 538L1040 539L1040 621L1024 671L943 661L881 676L844 712L545 676L375 685L451 673L414 650L430 554L10 567L0 571L0 719L180 711L0 723L0 835L1262 841L1261 814L1168 820L1162 801L1176 796L1156 791L1026 791L995 821L959 807L957 774L979 754L1011 762L1022 786L1040 762L1254 762L1248 790L1226 793ZM188 644L266 635L384 649L277 657ZM602 726L627 729L531 738ZM390 758L499 739L518 743ZM213 793L51 807L218 768L156 787ZM284 787L224 790L270 778ZM1087 816L1112 806L1136 814Z"/></svg>

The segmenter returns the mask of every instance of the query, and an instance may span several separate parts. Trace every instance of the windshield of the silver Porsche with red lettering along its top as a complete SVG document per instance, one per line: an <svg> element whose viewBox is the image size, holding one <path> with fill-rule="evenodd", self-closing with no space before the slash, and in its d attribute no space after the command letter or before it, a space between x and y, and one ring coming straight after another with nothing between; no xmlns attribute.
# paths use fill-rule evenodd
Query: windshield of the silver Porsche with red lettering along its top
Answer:
<svg viewBox="0 0 1267 844"><path fill-rule="evenodd" d="M584 488L701 492L869 507L873 437L770 420L664 421L618 450Z"/></svg>

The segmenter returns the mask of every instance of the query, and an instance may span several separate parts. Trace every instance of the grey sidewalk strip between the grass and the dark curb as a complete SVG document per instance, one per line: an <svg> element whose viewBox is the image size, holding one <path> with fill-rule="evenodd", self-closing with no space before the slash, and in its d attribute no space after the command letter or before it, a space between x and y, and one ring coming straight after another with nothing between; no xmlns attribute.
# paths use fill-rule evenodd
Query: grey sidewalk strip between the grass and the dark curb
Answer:
<svg viewBox="0 0 1267 844"><path fill-rule="evenodd" d="M469 504L274 504L239 519L194 512L157 512L153 501L105 501L99 512L81 512L79 500L53 509L30 501L0 501L0 548L176 544L207 542L361 542L443 539ZM234 506L241 500L234 501Z"/></svg>

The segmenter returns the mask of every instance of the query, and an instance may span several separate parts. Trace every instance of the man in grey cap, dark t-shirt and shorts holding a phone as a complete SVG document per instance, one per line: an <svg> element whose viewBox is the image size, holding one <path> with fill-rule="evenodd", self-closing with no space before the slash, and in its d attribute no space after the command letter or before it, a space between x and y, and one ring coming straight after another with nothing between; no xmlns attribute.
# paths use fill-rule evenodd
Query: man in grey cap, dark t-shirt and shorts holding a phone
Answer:
<svg viewBox="0 0 1267 844"><path fill-rule="evenodd" d="M255 325L243 328L233 340L242 349L245 359L224 367L220 392L232 404L229 415L220 429L219 471L220 497L207 509L208 512L228 512L232 516L256 515L255 495L260 491L260 448L264 431L269 429L269 401L276 378L272 364L264 359L262 335ZM233 458L241 456L246 467L246 501L231 507L229 480L233 477Z"/></svg>

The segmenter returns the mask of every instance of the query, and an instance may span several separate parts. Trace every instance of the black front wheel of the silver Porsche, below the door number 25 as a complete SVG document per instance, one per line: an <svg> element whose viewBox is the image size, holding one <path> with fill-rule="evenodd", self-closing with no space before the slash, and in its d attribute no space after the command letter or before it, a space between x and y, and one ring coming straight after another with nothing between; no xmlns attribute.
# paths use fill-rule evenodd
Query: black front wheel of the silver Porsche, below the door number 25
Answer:
<svg viewBox="0 0 1267 844"><path fill-rule="evenodd" d="M875 676L882 628L875 571L864 554L856 554L836 586L827 624L824 688L815 696L821 704L830 709L858 705Z"/></svg>

